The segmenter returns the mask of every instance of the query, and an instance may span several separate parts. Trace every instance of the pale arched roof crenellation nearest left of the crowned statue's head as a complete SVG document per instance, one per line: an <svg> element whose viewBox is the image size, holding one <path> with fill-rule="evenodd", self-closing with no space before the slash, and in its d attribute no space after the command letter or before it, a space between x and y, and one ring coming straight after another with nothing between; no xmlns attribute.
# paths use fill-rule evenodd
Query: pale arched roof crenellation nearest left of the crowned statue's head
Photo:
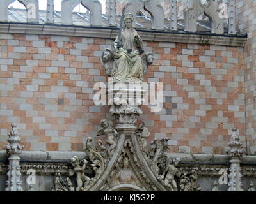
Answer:
<svg viewBox="0 0 256 204"><path fill-rule="evenodd" d="M90 11L91 25L102 26L102 9L101 3L97 0L63 0L61 1L61 23L72 25L72 11L78 4L82 4L86 9Z"/></svg>

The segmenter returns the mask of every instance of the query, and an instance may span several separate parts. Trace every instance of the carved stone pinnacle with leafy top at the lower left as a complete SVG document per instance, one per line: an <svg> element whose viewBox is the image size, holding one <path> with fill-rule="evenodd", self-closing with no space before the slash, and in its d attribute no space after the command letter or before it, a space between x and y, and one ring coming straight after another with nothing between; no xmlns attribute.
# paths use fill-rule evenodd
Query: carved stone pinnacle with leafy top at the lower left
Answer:
<svg viewBox="0 0 256 204"><path fill-rule="evenodd" d="M17 131L17 125L12 124L12 129L10 134L8 134L8 145L4 147L6 149L6 154L10 154L9 165L6 181L6 191L23 191L22 182L20 180L20 157L19 154L22 153L23 146L20 145L20 133Z"/></svg>

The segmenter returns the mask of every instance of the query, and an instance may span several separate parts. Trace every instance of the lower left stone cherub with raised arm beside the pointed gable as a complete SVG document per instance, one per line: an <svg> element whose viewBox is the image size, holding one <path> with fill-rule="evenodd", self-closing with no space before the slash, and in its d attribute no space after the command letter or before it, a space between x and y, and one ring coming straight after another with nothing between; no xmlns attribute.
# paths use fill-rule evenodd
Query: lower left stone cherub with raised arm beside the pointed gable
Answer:
<svg viewBox="0 0 256 204"><path fill-rule="evenodd" d="M83 191L83 189L88 186L89 182L90 182L90 178L87 177L86 175L84 175L84 169L86 167L86 164L88 163L88 161L86 159L83 160L83 166L80 166L80 162L77 156L74 156L70 163L72 164L73 169L72 170L68 170L68 175L72 176L76 173L76 181L77 181L77 187L76 187L76 191ZM83 186L83 182L84 182L84 187Z"/></svg>

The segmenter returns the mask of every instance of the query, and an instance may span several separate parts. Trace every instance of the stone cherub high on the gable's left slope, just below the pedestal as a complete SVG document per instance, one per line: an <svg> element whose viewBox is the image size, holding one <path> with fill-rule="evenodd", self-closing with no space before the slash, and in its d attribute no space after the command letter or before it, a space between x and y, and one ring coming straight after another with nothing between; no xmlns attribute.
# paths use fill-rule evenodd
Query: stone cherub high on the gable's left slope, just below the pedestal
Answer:
<svg viewBox="0 0 256 204"><path fill-rule="evenodd" d="M114 150L116 148L116 136L118 136L118 132L109 125L107 120L101 120L101 129L99 129L97 136L99 135L106 135L107 140L106 142L109 144L108 147L108 154L113 155Z"/></svg>

